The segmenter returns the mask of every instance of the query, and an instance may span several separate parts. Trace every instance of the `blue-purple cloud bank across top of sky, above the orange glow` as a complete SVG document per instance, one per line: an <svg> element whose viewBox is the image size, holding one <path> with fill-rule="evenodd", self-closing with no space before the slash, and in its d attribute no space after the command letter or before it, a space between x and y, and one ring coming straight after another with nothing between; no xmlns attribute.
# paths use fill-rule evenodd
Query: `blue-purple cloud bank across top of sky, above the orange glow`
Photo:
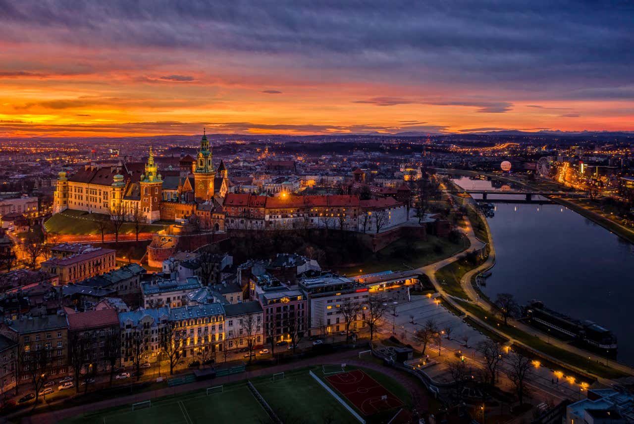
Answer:
<svg viewBox="0 0 634 424"><path fill-rule="evenodd" d="M631 82L634 63L629 1L0 0L0 10L12 42L275 54L420 82L609 89Z"/></svg>

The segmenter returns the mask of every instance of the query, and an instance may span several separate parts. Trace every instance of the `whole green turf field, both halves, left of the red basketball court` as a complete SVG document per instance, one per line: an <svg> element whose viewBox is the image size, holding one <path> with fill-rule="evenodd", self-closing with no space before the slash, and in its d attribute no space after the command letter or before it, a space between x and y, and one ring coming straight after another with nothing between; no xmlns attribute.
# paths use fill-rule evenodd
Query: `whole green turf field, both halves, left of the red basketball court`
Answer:
<svg viewBox="0 0 634 424"><path fill-rule="evenodd" d="M321 366L314 369L321 374ZM308 369L285 373L273 380L271 375L251 380L271 409L282 421L301 420L306 424L321 424L328 416L336 423L358 421L308 373ZM213 384L210 383L210 386ZM197 423L265 423L270 419L247 382L226 384L222 392L207 395L206 389L193 390L176 396L152 399L150 406L131 404L75 416L63 424L197 424Z"/></svg>

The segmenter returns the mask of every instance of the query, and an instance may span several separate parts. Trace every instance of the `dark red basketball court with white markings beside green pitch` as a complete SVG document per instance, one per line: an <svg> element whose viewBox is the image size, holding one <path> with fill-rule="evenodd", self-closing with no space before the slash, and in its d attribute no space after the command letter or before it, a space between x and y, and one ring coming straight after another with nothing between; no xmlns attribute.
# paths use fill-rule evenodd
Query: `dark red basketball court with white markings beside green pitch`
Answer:
<svg viewBox="0 0 634 424"><path fill-rule="evenodd" d="M363 415L372 415L403 406L403 402L398 397L361 370L330 375L326 377L326 380Z"/></svg>

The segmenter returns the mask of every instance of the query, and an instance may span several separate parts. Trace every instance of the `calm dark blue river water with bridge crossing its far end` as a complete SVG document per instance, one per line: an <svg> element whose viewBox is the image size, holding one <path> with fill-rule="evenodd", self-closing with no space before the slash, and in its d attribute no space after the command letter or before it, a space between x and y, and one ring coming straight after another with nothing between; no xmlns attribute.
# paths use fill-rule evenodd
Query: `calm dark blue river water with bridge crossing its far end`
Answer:
<svg viewBox="0 0 634 424"><path fill-rule="evenodd" d="M492 188L486 180L453 181L464 189ZM493 299L512 293L520 304L538 299L609 328L618 337L618 360L634 365L634 245L559 204L493 204L488 222L496 264L484 292Z"/></svg>

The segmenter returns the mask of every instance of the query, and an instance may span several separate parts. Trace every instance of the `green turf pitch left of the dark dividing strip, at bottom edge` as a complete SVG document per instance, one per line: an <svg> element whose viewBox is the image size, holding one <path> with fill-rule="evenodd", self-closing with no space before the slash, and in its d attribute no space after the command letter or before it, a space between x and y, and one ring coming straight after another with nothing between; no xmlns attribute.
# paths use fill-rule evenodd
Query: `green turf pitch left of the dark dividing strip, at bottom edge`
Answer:
<svg viewBox="0 0 634 424"><path fill-rule="evenodd" d="M213 383L210 383L213 385ZM166 396L152 401L152 407L132 411L126 405L86 416L61 421L63 424L169 424L169 423L259 423L268 415L244 382L225 385L222 393L210 394L200 389L181 396Z"/></svg>

